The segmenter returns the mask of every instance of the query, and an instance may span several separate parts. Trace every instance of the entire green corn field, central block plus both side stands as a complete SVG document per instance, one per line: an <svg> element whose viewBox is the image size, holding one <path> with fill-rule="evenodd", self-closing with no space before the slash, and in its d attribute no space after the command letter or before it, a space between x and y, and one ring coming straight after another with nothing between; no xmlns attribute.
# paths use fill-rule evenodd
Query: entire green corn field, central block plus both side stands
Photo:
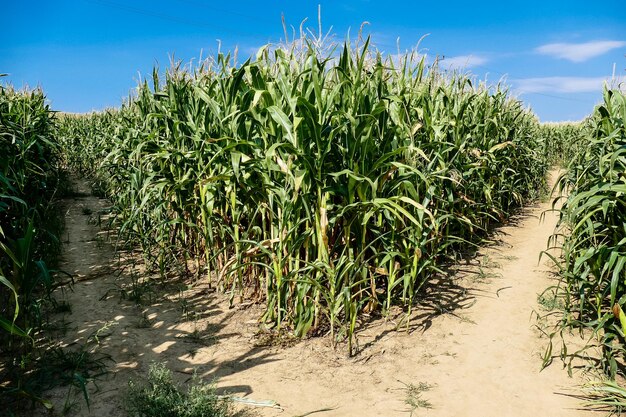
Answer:
<svg viewBox="0 0 626 417"><path fill-rule="evenodd" d="M112 202L118 243L163 280L183 272L232 305L263 305L260 321L276 332L328 335L352 354L369 317L400 307L408 328L429 281L545 195L560 165L548 243L561 250L549 255L564 305L557 333L590 330L615 377L626 343L625 120L626 95L607 88L584 122L539 124L505 87L417 54L383 56L369 41L328 49L303 38L243 64L230 54L174 64L120 108L83 115L57 117L41 90L0 86L6 369L30 357L55 302L66 172ZM24 375L0 394L44 403L20 387Z"/></svg>

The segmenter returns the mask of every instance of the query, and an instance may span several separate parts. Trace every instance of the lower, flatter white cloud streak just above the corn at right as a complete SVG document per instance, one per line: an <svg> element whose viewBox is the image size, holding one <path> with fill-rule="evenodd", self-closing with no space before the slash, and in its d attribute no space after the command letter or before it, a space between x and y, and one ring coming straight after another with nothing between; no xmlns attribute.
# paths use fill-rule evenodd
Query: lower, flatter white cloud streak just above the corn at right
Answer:
<svg viewBox="0 0 626 417"><path fill-rule="evenodd" d="M515 90L524 93L599 93L609 77L541 77L512 80Z"/></svg>

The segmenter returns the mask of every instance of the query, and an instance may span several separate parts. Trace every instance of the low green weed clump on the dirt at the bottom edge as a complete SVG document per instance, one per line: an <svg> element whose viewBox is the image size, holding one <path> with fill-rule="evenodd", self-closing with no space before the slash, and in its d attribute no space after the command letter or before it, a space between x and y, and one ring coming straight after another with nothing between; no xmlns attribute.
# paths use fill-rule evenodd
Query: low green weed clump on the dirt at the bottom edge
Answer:
<svg viewBox="0 0 626 417"><path fill-rule="evenodd" d="M194 378L185 392L164 364L150 366L145 383L129 382L126 409L130 417L229 417L234 413L227 398L218 397L212 385Z"/></svg>

